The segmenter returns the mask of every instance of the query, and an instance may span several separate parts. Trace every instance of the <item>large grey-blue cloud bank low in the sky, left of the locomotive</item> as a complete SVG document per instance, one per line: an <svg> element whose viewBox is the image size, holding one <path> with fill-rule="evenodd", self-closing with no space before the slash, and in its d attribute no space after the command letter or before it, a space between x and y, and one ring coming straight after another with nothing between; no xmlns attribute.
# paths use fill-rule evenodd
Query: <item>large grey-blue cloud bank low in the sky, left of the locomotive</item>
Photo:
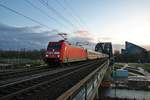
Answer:
<svg viewBox="0 0 150 100"><path fill-rule="evenodd" d="M56 30L43 31L40 26L14 27L0 24L0 49L46 48Z"/></svg>

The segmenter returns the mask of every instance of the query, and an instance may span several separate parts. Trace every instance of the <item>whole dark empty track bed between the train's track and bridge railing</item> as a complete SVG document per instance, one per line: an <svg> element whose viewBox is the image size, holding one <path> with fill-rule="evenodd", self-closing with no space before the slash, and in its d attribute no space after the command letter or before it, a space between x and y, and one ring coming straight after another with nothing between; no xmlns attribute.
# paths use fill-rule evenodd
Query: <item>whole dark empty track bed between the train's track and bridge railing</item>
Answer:
<svg viewBox="0 0 150 100"><path fill-rule="evenodd" d="M0 100L56 99L61 92L73 86L73 84L97 68L102 62L92 61L76 67L2 85L0 86Z"/></svg>

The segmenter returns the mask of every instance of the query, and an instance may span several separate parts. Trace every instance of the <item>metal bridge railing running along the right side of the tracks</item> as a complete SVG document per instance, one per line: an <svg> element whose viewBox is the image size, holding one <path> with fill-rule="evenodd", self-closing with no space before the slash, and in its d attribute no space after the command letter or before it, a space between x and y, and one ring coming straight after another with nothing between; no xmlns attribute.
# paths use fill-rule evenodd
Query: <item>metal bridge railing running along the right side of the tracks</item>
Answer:
<svg viewBox="0 0 150 100"><path fill-rule="evenodd" d="M98 87L109 66L109 60L63 93L57 100L92 100L98 98Z"/></svg>

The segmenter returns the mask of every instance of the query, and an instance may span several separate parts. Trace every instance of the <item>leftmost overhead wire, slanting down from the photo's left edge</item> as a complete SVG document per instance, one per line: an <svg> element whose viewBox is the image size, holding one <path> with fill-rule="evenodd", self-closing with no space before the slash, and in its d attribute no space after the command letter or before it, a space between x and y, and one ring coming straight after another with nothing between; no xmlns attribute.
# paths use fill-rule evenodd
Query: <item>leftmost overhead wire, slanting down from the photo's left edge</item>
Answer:
<svg viewBox="0 0 150 100"><path fill-rule="evenodd" d="M14 9L11 9L11 8L5 6L5 5L0 4L0 6L3 7L3 8L5 8L5 9L7 9L7 10L9 10L9 11L11 11L11 12L13 12L13 13L15 13L15 14L17 14L17 15L23 16L24 18L26 18L26 19L28 19L28 20L31 20L32 22L37 23L37 24L39 24L39 25L41 25L41 26L43 26L43 27L46 27L46 28L48 28L48 29L52 29L52 28L50 28L49 26L47 26L47 25L45 25L45 24L42 24L41 22L39 22L39 21L37 21L37 20L35 20L35 19L29 17L29 16L26 16L26 15L24 15L24 14L22 14L22 13L16 11L16 10L14 10Z"/></svg>

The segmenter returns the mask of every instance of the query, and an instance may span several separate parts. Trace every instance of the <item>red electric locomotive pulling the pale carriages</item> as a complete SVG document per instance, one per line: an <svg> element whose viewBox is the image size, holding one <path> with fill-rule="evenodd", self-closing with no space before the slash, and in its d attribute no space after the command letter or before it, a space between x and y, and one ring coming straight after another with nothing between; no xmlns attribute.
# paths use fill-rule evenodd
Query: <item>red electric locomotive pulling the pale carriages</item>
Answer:
<svg viewBox="0 0 150 100"><path fill-rule="evenodd" d="M86 60L87 50L81 47L69 45L65 41L49 42L45 62L51 63L68 63Z"/></svg>

